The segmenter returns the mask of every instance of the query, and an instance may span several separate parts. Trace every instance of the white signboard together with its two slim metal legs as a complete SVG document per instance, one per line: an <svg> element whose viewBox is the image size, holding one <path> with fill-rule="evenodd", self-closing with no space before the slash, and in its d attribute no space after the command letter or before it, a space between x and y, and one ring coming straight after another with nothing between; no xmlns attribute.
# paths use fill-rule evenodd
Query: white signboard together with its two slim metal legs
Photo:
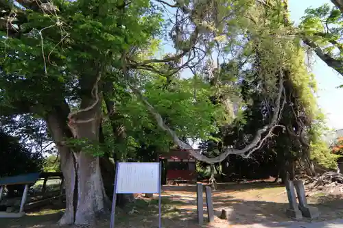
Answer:
<svg viewBox="0 0 343 228"><path fill-rule="evenodd" d="M161 228L161 162L117 162L110 228L115 228L117 194L158 193L158 228Z"/></svg>

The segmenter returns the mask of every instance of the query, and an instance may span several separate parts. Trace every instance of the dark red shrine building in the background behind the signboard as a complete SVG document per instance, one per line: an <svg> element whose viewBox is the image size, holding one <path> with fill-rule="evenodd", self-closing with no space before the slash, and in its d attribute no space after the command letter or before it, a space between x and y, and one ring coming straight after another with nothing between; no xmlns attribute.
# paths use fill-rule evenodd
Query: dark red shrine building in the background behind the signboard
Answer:
<svg viewBox="0 0 343 228"><path fill-rule="evenodd" d="M163 166L165 166L163 167L166 172L165 183L196 183L196 160L189 151L185 149L170 149L168 153L161 154L159 158L163 160Z"/></svg>

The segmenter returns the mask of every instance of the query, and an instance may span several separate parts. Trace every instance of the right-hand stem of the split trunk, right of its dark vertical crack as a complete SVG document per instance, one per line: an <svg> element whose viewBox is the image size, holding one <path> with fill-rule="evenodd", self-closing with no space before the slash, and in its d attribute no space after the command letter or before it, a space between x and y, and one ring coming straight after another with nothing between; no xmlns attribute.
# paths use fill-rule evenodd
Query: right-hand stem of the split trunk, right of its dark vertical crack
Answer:
<svg viewBox="0 0 343 228"><path fill-rule="evenodd" d="M91 109L80 110L69 115L69 128L74 138L84 140L81 151L74 153L78 174L78 205L75 212L75 225L93 225L100 214L109 209L109 200L104 190L99 157L93 155L92 145L99 142L101 123L101 96L94 100L83 99L81 107L95 105Z"/></svg>

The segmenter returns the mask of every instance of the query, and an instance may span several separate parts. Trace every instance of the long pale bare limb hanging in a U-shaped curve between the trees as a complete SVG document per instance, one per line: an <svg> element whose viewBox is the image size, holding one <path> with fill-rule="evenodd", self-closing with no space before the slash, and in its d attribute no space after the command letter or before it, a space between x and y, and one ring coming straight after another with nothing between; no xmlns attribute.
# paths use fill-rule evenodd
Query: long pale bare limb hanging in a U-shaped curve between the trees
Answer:
<svg viewBox="0 0 343 228"><path fill-rule="evenodd" d="M129 75L128 75L128 68L126 66L126 64L122 65L122 69L123 69L123 74L124 77L126 79L129 79ZM280 102L281 102L281 97L283 94L283 72L282 70L280 70L280 79L279 79L279 93L278 96L276 98L276 104L275 104L275 109L274 109L274 114L272 116L272 121L270 121L270 125L265 125L262 129L259 129L257 131L257 134L255 136L255 138L252 140L252 142L250 142L250 144L248 144L246 147L244 147L244 149L233 149L232 147L226 147L223 151L223 153L221 153L220 155L218 155L217 157L206 157L205 155L201 154L201 153L197 153L189 144L182 142L178 136L176 135L175 131L173 131L170 127L168 127L165 122L163 121L163 118L161 116L161 114L159 114L154 106L152 106L149 101L147 101L147 99L145 97L143 97L143 94L139 91L138 88L136 88L135 86L132 86L132 84L130 84L130 81L128 81L129 86L132 90L132 92L134 92L134 94L141 99L141 101L145 104L145 106L147 107L147 110L150 112L150 114L152 114L152 116L154 116L157 124L159 127L161 127L161 129L163 129L164 131L167 131L167 133L171 136L171 138L173 138L173 141L175 144L177 144L179 147L181 147L182 149L186 149L189 151L189 153L191 153L191 155L196 159L199 160L201 162L205 162L207 164L215 164L218 162L222 162L226 157L228 157L228 155L230 154L235 154L235 155L241 155L242 157L248 157L250 156L250 154L248 155L244 155L244 153L250 151L251 149L254 149L255 147L257 147L259 145L259 142L261 141L261 135L263 133L265 133L265 131L268 131L268 129L274 129L274 127L276 127L277 123L279 122L279 116L280 116L280 112L281 112L281 107L280 107ZM272 132L272 130L270 131ZM272 137L272 134L268 134L267 136L265 136L265 138L268 137ZM265 140L265 138L263 138L263 141ZM261 147L261 144L260 144ZM256 149L255 149L256 150Z"/></svg>

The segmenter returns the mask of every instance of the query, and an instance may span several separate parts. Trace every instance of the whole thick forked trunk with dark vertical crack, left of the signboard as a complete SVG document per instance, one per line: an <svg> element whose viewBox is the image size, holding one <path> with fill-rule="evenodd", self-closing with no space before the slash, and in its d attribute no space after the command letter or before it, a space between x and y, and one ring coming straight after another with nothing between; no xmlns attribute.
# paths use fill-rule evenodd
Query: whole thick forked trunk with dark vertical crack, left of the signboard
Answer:
<svg viewBox="0 0 343 228"><path fill-rule="evenodd" d="M93 142L98 142L99 122L101 121L101 107L97 105L95 111L78 114L72 125L67 126L69 107L61 103L53 112L47 115L47 123L51 135L56 142L61 156L61 168L64 175L66 188L66 211L60 220L60 225L92 225L97 220L97 215L106 212L110 201L104 192L104 184L99 166L99 157L91 151ZM86 123L78 121L92 119ZM88 140L88 146L81 151L71 151L64 142L66 138Z"/></svg>

